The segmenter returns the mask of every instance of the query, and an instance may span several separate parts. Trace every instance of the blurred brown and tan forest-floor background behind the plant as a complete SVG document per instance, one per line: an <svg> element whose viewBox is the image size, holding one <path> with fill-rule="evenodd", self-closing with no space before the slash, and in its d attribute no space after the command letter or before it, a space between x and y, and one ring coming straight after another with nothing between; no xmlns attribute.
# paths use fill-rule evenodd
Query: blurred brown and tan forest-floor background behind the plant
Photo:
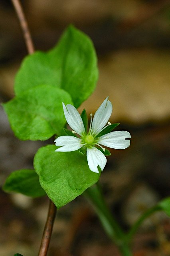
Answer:
<svg viewBox="0 0 170 256"><path fill-rule="evenodd" d="M88 114L109 96L131 145L111 150L100 183L125 230L170 196L170 0L22 0L36 50L52 48L72 23L90 36L99 81L82 104ZM0 1L0 101L14 96L14 76L27 50L10 0ZM0 106L0 185L10 172L33 168L47 142L14 137ZM0 255L37 255L48 199L0 190ZM138 230L134 256L170 256L170 219L155 214ZM119 256L89 203L79 196L57 212L48 256Z"/></svg>

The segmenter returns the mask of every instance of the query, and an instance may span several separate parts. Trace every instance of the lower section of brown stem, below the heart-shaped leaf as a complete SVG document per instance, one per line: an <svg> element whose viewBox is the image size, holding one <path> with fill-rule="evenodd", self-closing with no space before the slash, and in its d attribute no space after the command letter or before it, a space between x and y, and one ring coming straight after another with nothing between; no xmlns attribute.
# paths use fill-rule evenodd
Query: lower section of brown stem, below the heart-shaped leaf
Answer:
<svg viewBox="0 0 170 256"><path fill-rule="evenodd" d="M45 223L43 236L42 236L42 242L40 245L40 250L39 250L38 256L46 256L47 255L56 212L57 212L57 208L55 207L55 204L50 200L47 220Z"/></svg>

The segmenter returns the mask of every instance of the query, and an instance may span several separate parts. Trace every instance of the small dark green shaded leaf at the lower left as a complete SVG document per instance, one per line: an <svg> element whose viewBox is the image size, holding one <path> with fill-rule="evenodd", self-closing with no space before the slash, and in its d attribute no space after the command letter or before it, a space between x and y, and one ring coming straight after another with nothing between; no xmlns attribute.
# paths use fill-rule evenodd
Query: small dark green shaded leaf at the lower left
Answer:
<svg viewBox="0 0 170 256"><path fill-rule="evenodd" d="M39 177L34 170L22 169L12 172L3 186L5 192L16 192L33 198L45 196Z"/></svg>

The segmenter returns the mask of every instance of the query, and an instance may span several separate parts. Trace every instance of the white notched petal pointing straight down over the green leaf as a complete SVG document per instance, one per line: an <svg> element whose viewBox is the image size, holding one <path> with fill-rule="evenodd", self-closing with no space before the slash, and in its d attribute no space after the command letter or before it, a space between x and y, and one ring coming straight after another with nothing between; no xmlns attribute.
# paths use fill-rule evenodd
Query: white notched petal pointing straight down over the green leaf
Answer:
<svg viewBox="0 0 170 256"><path fill-rule="evenodd" d="M93 147L93 148L87 148L87 162L92 172L99 173L97 166L99 165L101 170L103 171L106 165L107 159L100 150Z"/></svg>

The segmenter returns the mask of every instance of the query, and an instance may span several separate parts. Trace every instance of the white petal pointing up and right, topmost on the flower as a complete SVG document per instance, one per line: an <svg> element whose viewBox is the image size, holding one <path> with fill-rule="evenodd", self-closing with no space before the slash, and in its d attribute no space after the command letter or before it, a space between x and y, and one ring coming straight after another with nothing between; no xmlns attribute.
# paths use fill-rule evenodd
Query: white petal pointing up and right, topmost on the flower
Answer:
<svg viewBox="0 0 170 256"><path fill-rule="evenodd" d="M105 124L108 122L111 113L112 113L112 104L108 100L109 97L107 97L103 103L99 106L98 110L95 112L93 122L92 122L92 132L94 132L94 135L97 135L102 128L105 126Z"/></svg>

